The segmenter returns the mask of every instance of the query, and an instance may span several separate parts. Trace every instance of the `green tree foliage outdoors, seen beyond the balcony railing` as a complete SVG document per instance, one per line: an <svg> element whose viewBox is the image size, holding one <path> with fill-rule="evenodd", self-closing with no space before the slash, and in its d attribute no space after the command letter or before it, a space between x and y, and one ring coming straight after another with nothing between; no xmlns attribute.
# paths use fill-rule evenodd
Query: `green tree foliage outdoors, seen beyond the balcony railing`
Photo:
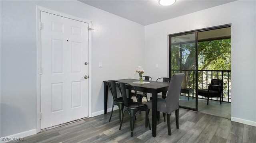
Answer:
<svg viewBox="0 0 256 143"><path fill-rule="evenodd" d="M172 70L194 70L195 43L178 43L171 47L171 69ZM198 42L198 70L231 70L231 39L221 39L214 41ZM173 73L177 73L173 72ZM179 71L180 72L180 71ZM184 73L184 71L182 71ZM218 72L218 79L222 79L223 74L223 95L228 96L228 86L231 89L231 72ZM229 74L229 79L228 75ZM206 75L208 79L206 79ZM194 72L186 72L186 81L183 87L194 88L192 83L195 81ZM199 83L210 83L211 78L217 78L217 72L198 72ZM189 79L189 80L188 80ZM195 83L194 83L195 84Z"/></svg>

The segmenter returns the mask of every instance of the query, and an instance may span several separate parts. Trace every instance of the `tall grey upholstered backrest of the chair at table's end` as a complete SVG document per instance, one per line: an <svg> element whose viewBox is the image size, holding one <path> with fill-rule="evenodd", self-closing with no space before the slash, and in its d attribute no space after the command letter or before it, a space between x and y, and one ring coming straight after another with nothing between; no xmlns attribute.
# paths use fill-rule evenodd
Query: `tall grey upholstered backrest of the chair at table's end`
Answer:
<svg viewBox="0 0 256 143"><path fill-rule="evenodd" d="M184 73L172 75L166 98L166 108L169 113L179 108L180 89L183 78Z"/></svg>

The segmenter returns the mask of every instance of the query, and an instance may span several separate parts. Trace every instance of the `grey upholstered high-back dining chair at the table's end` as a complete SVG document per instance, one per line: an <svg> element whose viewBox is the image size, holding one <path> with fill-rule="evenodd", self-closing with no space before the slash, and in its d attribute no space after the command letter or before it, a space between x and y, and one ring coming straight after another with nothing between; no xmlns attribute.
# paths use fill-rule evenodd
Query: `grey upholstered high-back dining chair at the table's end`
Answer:
<svg viewBox="0 0 256 143"><path fill-rule="evenodd" d="M166 99L158 98L157 111L166 113L168 135L171 135L170 114L175 111L176 128L179 128L179 96L183 73L173 74L168 88ZM145 103L149 109L152 109L152 100Z"/></svg>

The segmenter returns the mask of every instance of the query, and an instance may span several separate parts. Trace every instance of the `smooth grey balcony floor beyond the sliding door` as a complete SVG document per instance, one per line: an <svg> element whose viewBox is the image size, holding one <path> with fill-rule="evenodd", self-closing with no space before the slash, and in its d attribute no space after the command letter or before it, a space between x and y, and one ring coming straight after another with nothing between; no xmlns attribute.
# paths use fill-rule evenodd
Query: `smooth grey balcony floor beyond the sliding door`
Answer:
<svg viewBox="0 0 256 143"><path fill-rule="evenodd" d="M180 96L180 105L195 108L196 98L188 96ZM231 118L231 103L209 100L209 105L207 105L206 99L198 98L198 112L205 114L211 114L223 118Z"/></svg>

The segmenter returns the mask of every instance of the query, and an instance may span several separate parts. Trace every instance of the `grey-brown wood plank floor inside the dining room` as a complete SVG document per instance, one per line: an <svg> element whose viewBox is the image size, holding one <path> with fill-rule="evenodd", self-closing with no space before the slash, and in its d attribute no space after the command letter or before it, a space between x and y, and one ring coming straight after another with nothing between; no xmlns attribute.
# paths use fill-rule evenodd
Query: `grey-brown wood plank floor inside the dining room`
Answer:
<svg viewBox="0 0 256 143"><path fill-rule="evenodd" d="M68 125L42 131L24 138L26 143L255 143L256 127L230 121L230 119L180 109L180 129L176 129L175 114L171 114L172 135L168 135L167 122L162 115L157 125L157 136L145 127L145 112L137 114L133 137L130 121L125 113L119 131L118 111L86 118ZM151 113L150 113L151 124ZM152 125L152 124L151 124Z"/></svg>

